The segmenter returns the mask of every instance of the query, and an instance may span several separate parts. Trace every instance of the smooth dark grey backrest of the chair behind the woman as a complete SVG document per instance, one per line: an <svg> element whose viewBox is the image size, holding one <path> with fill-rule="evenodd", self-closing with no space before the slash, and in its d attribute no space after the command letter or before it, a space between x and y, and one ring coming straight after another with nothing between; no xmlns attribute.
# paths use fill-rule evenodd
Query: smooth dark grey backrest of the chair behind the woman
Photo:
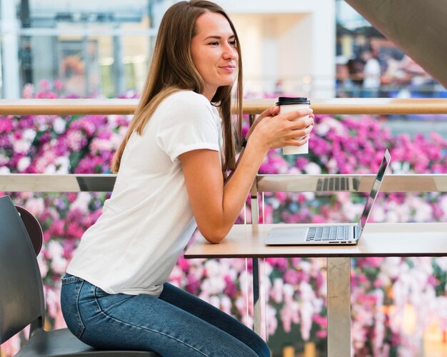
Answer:
<svg viewBox="0 0 447 357"><path fill-rule="evenodd" d="M28 232L9 196L0 197L0 343L45 313L44 288Z"/></svg>

